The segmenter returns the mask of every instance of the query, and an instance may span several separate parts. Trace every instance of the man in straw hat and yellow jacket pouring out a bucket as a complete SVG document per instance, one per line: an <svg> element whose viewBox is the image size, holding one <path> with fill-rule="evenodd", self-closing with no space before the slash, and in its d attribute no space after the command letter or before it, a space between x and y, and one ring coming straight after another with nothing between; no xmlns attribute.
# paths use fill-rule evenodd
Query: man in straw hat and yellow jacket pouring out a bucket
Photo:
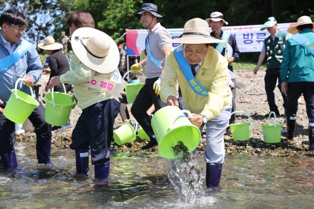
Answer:
<svg viewBox="0 0 314 209"><path fill-rule="evenodd" d="M206 185L216 187L225 157L224 132L231 115L232 93L228 61L209 44L225 41L211 37L208 23L199 18L185 23L181 38L168 41L182 45L165 59L160 98L167 105L179 106L178 80L184 106L192 113L188 119L200 130L206 126Z"/></svg>

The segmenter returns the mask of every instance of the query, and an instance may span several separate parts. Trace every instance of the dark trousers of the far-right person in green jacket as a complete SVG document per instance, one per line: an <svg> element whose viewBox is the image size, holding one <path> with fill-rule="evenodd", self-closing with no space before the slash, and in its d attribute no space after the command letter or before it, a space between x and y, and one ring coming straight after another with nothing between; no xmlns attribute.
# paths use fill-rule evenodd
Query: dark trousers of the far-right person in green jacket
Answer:
<svg viewBox="0 0 314 209"><path fill-rule="evenodd" d="M306 112L310 123L314 123L314 82L292 82L288 83L288 102L286 104L286 115L295 116L298 111L298 99L303 94L306 104Z"/></svg>

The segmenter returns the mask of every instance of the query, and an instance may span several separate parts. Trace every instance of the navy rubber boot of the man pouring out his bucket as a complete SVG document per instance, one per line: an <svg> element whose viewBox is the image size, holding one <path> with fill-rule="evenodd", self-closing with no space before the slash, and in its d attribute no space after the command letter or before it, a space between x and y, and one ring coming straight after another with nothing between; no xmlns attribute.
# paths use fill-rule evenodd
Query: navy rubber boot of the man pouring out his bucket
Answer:
<svg viewBox="0 0 314 209"><path fill-rule="evenodd" d="M212 188L220 183L222 163L206 163L206 186Z"/></svg>

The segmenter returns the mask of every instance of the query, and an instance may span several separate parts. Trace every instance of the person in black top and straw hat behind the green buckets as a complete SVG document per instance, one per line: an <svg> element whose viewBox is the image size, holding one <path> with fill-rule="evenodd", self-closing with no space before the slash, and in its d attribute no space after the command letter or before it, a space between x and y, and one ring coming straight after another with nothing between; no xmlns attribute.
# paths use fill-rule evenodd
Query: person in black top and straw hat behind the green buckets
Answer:
<svg viewBox="0 0 314 209"><path fill-rule="evenodd" d="M65 53L62 52L62 47L63 47L62 44L56 43L52 36L47 36L45 39L45 42L39 43L38 47L40 49L46 50L49 54L51 54L50 58L49 58L49 67L51 70L49 80L54 76L60 76L60 75L65 74L66 72L68 72L70 70L68 57ZM66 89L66 92L64 92L64 93L67 93L72 88L72 85L70 85L68 83L65 83L64 86ZM49 88L48 88L48 83L47 83L47 85L45 87L45 91L48 91L48 90L49 90ZM56 86L54 88L54 91L55 92L63 92L64 91L63 86L62 85ZM70 119L69 119L68 123L62 127L53 126L52 131L53 130L56 130L56 131L72 130Z"/></svg>

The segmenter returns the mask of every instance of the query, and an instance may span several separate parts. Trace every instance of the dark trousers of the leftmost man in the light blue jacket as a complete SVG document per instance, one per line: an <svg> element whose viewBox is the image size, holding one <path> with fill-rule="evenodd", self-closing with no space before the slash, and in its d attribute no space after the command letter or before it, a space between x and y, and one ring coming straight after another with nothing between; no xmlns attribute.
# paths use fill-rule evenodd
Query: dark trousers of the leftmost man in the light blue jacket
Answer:
<svg viewBox="0 0 314 209"><path fill-rule="evenodd" d="M36 98L39 106L30 114L28 119L35 127L36 150L46 153L47 144L51 143L51 126L45 121L45 108ZM0 114L0 153L9 153L14 148L15 123Z"/></svg>

